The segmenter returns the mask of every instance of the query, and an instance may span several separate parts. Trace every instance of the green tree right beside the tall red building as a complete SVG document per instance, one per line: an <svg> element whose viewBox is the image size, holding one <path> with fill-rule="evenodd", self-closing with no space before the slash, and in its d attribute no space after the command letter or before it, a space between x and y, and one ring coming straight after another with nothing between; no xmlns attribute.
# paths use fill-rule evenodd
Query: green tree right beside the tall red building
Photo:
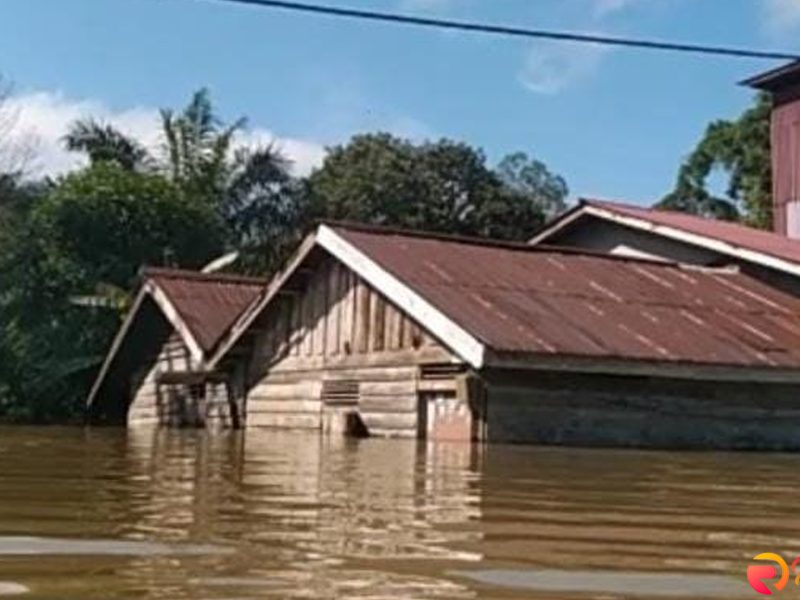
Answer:
<svg viewBox="0 0 800 600"><path fill-rule="evenodd" d="M772 169L768 95L737 119L711 123L697 147L678 171L675 189L659 206L704 217L741 219L754 227L772 226ZM709 189L709 177L727 175L724 196Z"/></svg>

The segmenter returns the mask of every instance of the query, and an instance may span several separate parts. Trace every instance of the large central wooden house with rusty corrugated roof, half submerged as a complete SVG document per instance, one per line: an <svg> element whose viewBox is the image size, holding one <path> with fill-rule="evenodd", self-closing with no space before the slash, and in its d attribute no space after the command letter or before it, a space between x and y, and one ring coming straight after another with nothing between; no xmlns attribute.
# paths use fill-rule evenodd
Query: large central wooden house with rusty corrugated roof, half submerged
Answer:
<svg viewBox="0 0 800 600"><path fill-rule="evenodd" d="M735 268L323 225L253 293L190 379L248 428L800 447L800 299Z"/></svg>

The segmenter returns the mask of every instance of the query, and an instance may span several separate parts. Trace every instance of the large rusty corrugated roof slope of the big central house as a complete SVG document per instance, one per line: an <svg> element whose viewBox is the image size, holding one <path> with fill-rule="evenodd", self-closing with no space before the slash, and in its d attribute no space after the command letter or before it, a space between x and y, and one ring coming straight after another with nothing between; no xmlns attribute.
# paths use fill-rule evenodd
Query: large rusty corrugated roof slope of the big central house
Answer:
<svg viewBox="0 0 800 600"><path fill-rule="evenodd" d="M800 367L800 299L736 270L337 232L496 351Z"/></svg>

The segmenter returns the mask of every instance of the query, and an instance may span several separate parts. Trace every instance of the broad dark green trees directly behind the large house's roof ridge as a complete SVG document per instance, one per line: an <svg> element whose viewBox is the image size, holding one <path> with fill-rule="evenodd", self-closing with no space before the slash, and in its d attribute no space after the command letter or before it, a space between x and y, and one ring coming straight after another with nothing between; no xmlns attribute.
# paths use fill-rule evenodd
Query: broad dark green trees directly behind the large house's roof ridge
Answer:
<svg viewBox="0 0 800 600"><path fill-rule="evenodd" d="M522 240L543 222L543 199L563 202L567 193L542 171L548 189L533 177L504 181L463 143L359 135L330 148L309 177L306 210L315 218Z"/></svg>

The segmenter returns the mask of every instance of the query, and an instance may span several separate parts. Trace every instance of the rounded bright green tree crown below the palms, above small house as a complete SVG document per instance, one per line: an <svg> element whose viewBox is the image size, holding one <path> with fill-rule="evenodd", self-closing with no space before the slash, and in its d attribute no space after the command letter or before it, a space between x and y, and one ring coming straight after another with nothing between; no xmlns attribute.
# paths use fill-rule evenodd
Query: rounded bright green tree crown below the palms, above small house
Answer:
<svg viewBox="0 0 800 600"><path fill-rule="evenodd" d="M66 176L33 212L47 252L89 282L128 286L144 264L197 268L223 249L213 206L157 173L100 163Z"/></svg>

